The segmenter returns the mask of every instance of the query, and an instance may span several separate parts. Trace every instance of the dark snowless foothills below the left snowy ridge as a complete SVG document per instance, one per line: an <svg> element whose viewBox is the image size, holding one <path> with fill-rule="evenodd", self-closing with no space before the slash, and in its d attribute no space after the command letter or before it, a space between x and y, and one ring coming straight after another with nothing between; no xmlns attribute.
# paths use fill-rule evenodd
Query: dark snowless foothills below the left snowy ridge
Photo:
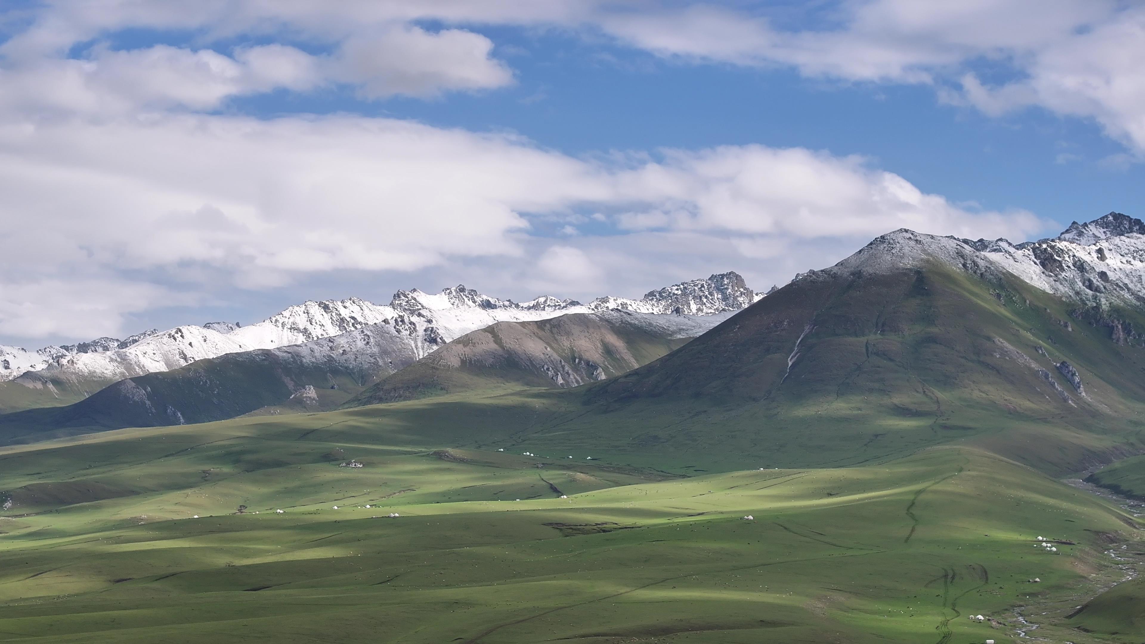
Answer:
<svg viewBox="0 0 1145 644"><path fill-rule="evenodd" d="M698 333L706 325L696 316L623 312L503 322L458 338L418 362L413 355L374 347L393 354L385 367L377 361L317 360L291 351L300 347L234 353L127 378L64 407L2 415L0 443L248 414L321 411L352 398L350 405L363 405L450 392L572 386L655 360L690 339L681 333ZM361 348L369 350L369 345ZM366 388L386 376L384 383ZM0 390L0 400L5 391Z"/></svg>

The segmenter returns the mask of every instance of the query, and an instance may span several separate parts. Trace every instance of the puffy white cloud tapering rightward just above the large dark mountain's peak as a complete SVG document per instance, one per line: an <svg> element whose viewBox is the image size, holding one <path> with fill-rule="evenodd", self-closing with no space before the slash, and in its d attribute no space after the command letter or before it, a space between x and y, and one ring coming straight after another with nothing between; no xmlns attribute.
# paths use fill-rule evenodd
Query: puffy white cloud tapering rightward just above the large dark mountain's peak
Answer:
<svg viewBox="0 0 1145 644"><path fill-rule="evenodd" d="M1045 222L1024 211L970 211L861 157L803 148L672 150L618 175L622 198L661 207L619 214L625 229L839 237L895 228L1022 237ZM663 206L674 207L663 207Z"/></svg>

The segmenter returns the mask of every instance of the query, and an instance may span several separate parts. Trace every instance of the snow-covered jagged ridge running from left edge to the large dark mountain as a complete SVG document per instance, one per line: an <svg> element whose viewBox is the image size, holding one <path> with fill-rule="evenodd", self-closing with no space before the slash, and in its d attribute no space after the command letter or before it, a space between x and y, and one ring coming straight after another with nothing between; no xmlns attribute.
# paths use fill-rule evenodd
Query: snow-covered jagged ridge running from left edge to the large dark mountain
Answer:
<svg viewBox="0 0 1145 644"><path fill-rule="evenodd" d="M743 308L753 301L752 298L751 289L735 273L652 291L640 300L607 297L589 305L552 296L516 304L464 285L444 289L436 294L412 289L395 293L389 305L377 305L360 298L307 301L247 327L208 322L202 327L147 331L127 340L101 338L34 352L0 346L0 380L17 379L29 386L47 386L50 380L109 384L132 376L176 369L207 358L314 343L384 323L402 337L411 338L410 350L416 359L453 338L496 322L524 322L613 308L710 315ZM371 331L368 331L360 339L366 341L370 335ZM353 337L345 340L353 345ZM342 340L327 348L352 351L342 345ZM307 351L317 350L310 347Z"/></svg>

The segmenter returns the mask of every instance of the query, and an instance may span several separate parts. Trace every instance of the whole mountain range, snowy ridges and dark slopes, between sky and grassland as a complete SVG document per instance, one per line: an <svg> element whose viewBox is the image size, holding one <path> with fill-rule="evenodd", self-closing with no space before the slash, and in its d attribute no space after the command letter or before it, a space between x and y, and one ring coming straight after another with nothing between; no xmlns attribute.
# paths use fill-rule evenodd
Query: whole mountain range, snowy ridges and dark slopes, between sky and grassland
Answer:
<svg viewBox="0 0 1145 644"><path fill-rule="evenodd" d="M544 394L552 405L584 406L554 435L599 434L616 449L688 449L714 423L728 432L721 440L740 443L735 457L793 445L810 429L831 438L808 458L847 462L881 442L906 449L992 433L1004 416L994 440L1020 442L1022 427L1057 423L1055 440L1098 462L1126 448L1101 435L1127 431L1145 399L1131 377L1145 369L1143 229L1120 213L1020 244L900 229L766 298L725 274L590 305L515 304L461 286L400 291L388 307L346 300L331 313L308 303L261 324L206 330L277 343L360 327L120 379L81 403L2 416L0 427L26 440L44 429L552 387L566 390ZM171 336L105 353L137 353L161 337ZM887 431L871 430L886 418ZM1008 455L1032 457L1011 447Z"/></svg>

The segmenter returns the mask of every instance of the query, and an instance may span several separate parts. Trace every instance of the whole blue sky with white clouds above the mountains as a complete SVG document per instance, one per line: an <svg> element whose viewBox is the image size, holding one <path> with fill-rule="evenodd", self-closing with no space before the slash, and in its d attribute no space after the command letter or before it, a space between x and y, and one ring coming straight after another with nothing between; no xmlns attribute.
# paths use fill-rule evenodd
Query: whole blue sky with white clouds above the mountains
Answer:
<svg viewBox="0 0 1145 644"><path fill-rule="evenodd" d="M464 282L766 289L1145 202L1115 1L6 3L0 343Z"/></svg>

